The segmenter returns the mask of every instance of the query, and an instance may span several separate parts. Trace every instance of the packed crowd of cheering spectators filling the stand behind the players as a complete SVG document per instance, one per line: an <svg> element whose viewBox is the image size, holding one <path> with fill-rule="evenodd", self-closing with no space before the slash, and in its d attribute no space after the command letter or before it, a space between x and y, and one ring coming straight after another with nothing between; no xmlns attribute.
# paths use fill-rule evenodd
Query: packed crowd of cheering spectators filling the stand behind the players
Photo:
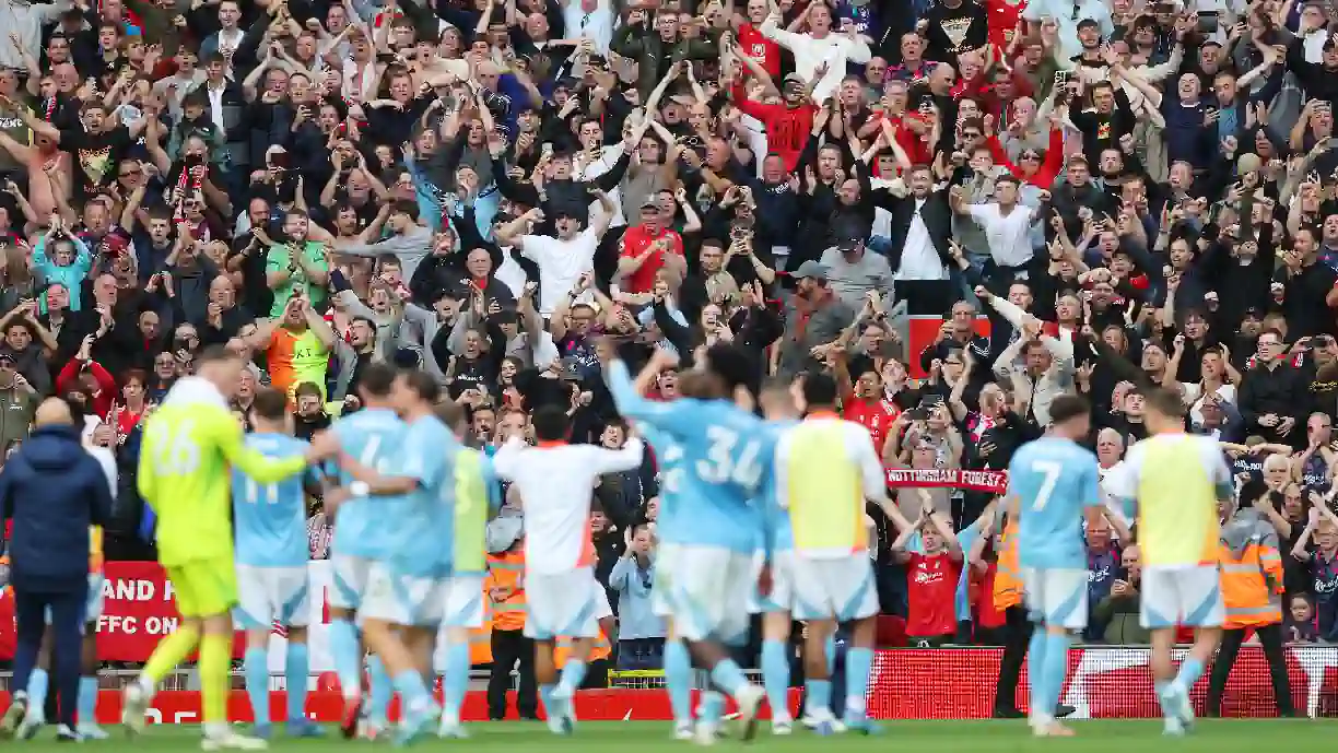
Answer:
<svg viewBox="0 0 1338 753"><path fill-rule="evenodd" d="M0 441L84 401L120 468L106 554L145 559L138 427L210 344L253 364L240 420L273 385L301 436L391 361L476 445L561 404L617 447L598 338L633 368L732 341L757 385L835 373L910 469L1004 469L1073 392L1108 469L1165 387L1276 530L1288 638L1338 642L1331 25L1295 0L0 0ZM597 492L625 663L653 663L654 460ZM991 642L994 492L898 494L884 611ZM313 504L313 556L332 524ZM1086 638L1141 642L1137 552L1088 543Z"/></svg>

